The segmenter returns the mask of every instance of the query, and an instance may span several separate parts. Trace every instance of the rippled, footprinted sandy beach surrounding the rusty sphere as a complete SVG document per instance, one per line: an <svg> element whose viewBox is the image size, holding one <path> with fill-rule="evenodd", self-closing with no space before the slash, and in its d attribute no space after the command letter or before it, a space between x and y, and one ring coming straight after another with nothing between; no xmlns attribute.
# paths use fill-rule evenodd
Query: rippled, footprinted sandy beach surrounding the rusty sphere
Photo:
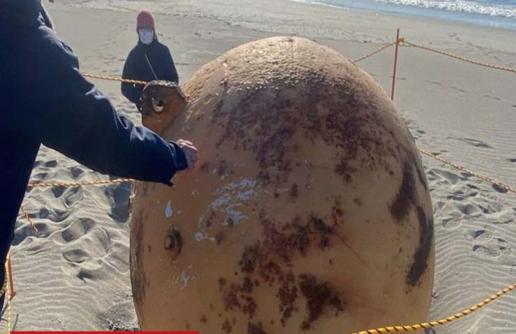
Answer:
<svg viewBox="0 0 516 334"><path fill-rule="evenodd" d="M354 60L393 42L397 28L411 42L516 67L516 31L404 15L287 0L168 1L166 5L56 0L47 5L57 33L79 56L82 71L112 76L121 75L137 42L135 15L140 8L155 13L158 38L172 51L180 84L208 61L252 40L298 35ZM393 51L391 47L358 63L388 92ZM400 48L397 66L395 103L418 147L515 186L515 75L413 47ZM93 82L119 113L140 123L119 84ZM433 320L516 283L516 195L429 157L423 157L423 163L435 221ZM44 147L31 177L35 182L105 179ZM17 331L138 328L128 256L129 188L121 184L29 189L24 207L38 232L20 216L11 250ZM516 333L515 310L516 293L508 294L435 333ZM5 325L2 321L2 329Z"/></svg>

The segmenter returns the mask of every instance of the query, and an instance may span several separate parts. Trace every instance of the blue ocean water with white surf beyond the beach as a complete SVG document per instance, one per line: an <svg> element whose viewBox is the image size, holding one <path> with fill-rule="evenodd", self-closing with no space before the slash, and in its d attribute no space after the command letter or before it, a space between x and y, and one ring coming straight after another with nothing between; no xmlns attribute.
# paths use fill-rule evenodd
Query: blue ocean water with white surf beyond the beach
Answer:
<svg viewBox="0 0 516 334"><path fill-rule="evenodd" d="M291 0L516 30L516 0ZM516 36L515 36L516 37ZM516 39L515 39L516 42Z"/></svg>

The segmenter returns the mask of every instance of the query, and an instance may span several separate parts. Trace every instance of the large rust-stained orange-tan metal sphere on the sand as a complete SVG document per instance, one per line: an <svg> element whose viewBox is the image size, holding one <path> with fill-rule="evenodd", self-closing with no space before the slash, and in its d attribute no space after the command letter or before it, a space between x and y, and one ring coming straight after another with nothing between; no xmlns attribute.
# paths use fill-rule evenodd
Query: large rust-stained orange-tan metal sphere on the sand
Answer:
<svg viewBox="0 0 516 334"><path fill-rule="evenodd" d="M144 330L342 333L426 321L432 205L400 113L365 72L268 38L150 84L143 122L197 145L175 188L137 184L130 244ZM187 102L188 98L188 102Z"/></svg>

